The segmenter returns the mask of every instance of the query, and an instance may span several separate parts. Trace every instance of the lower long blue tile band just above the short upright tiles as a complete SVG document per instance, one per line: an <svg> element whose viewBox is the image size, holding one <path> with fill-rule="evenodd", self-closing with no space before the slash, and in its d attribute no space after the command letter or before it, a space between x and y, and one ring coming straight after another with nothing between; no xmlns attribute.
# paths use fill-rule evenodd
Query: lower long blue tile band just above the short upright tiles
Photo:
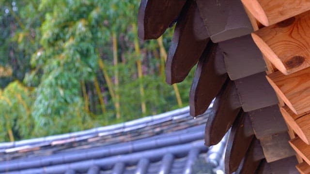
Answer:
<svg viewBox="0 0 310 174"><path fill-rule="evenodd" d="M195 141L195 142L191 142L191 143L188 143L188 144L184 144L184 145L174 145L174 146L168 146L168 147L162 147L162 148L159 148L159 149L154 149L154 150L146 150L146 151L141 151L141 152L137 152L137 153L131 153L131 154L125 154L125 155L116 155L116 156L111 156L111 157L108 157L108 158L101 158L101 159L96 159L96 160L83 160L83 161L78 161L78 162L72 162L72 163L65 163L65 164L58 164L58 165L53 165L53 166L47 166L47 167L39 167L39 168L31 168L31 169L27 169L27 170L33 170L33 169L37 169L39 170L40 168L44 168L46 171L49 169L53 169L53 168L56 168L56 169L63 169L63 171L67 170L68 167L72 167L70 169L73 169L75 170L75 168L73 168L74 166L78 166L78 164L82 164L82 163L85 163L87 161L93 161L92 163L94 165L97 165L97 166L105 166L111 162L113 162L113 160L119 160L119 161L122 161L122 162L128 162L128 159L126 159L125 157L130 157L130 156L134 156L134 155L139 155L139 156L143 156L143 158L147 158L148 160L152 159L152 158L155 158L157 156L163 156L164 154L167 154L167 153L171 153L172 155L175 155L175 154L180 154L180 153L188 153L188 151L191 149L191 148L194 148L194 147L197 147L199 148L200 150L207 150L208 147L206 147L204 145L204 140L199 140L199 141ZM124 158L122 158L124 157ZM123 160L125 159L125 160ZM132 161L130 161L132 162ZM138 160L139 162L139 160ZM90 166L89 166L90 167ZM15 173L14 171L12 171L13 173ZM10 174L10 172L7 172L6 174Z"/></svg>

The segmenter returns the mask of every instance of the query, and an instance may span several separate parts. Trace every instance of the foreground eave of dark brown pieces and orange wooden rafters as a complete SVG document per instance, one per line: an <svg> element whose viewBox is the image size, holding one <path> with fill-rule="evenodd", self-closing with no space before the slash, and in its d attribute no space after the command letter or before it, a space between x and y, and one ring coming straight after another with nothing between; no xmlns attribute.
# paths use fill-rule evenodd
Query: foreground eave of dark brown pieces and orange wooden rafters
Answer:
<svg viewBox="0 0 310 174"><path fill-rule="evenodd" d="M199 117L216 98L205 145L232 129L226 173L294 174L298 162L310 171L309 1L165 2L141 0L139 37L157 39L176 22L166 81L181 82L197 64L190 114Z"/></svg>

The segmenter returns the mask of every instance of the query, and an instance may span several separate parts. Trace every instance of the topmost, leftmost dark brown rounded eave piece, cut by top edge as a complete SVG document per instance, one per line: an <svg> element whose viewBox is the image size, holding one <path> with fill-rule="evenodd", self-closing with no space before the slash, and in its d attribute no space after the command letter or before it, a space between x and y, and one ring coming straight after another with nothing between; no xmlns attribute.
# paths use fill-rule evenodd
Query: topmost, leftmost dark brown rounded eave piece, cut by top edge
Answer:
<svg viewBox="0 0 310 174"><path fill-rule="evenodd" d="M160 37L177 19L185 3L186 0L141 0L138 37L143 40Z"/></svg>

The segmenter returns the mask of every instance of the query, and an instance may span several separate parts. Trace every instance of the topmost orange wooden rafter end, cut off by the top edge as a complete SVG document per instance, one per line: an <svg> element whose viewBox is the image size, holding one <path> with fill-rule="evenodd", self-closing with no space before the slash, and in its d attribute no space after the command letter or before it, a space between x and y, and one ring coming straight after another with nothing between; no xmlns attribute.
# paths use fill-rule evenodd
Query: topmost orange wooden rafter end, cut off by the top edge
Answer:
<svg viewBox="0 0 310 174"><path fill-rule="evenodd" d="M309 0L241 0L264 26L269 26L310 10Z"/></svg>

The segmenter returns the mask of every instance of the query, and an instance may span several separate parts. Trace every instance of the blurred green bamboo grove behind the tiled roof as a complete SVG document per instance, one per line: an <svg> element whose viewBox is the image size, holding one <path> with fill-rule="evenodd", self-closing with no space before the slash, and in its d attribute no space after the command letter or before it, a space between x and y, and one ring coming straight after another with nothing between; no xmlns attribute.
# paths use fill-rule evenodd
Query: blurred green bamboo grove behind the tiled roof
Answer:
<svg viewBox="0 0 310 174"><path fill-rule="evenodd" d="M0 141L123 122L188 104L165 83L172 29L140 41L140 0L0 0Z"/></svg>

